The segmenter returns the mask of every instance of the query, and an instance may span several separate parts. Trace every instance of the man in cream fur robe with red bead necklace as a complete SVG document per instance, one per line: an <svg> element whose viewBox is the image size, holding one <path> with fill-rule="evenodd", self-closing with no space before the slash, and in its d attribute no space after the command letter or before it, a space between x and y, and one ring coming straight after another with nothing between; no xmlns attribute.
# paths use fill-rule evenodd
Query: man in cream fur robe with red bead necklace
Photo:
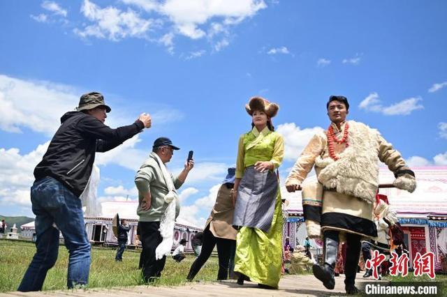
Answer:
<svg viewBox="0 0 447 297"><path fill-rule="evenodd" d="M345 289L346 294L356 294L360 240L377 236L372 208L379 187L379 160L394 172L396 188L413 192L416 179L377 130L346 121L349 102L344 96L330 96L326 107L330 126L307 144L286 179L286 188L295 192L315 166L318 183L302 185L307 233L310 238L323 236L324 241L324 264L315 264L313 272L333 289L339 241L346 240Z"/></svg>

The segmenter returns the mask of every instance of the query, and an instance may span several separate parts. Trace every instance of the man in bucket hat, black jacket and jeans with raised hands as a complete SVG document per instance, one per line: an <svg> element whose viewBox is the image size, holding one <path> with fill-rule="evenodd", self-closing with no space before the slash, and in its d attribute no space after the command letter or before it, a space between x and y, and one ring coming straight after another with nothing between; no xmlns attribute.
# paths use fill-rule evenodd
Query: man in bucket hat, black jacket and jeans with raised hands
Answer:
<svg viewBox="0 0 447 297"><path fill-rule="evenodd" d="M42 289L47 271L57 260L59 230L70 253L67 287L87 284L90 244L79 197L89 182L95 153L109 151L151 126L151 117L141 114L135 123L112 129L104 125L108 112L101 93L82 95L76 111L61 117L43 160L34 169L31 203L37 251L18 291Z"/></svg>

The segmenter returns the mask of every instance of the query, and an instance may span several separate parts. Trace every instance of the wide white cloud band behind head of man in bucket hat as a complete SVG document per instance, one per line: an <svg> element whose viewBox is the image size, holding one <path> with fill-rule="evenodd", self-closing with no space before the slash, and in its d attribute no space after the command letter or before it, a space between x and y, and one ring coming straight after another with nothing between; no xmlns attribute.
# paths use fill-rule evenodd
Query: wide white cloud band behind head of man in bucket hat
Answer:
<svg viewBox="0 0 447 297"><path fill-rule="evenodd" d="M0 129L20 133L22 128L29 128L52 136L61 124L60 117L78 105L81 93L72 86L0 74ZM108 99L105 101L108 102ZM184 118L184 113L178 109L163 107L157 108L151 116L152 123L159 125L180 121ZM105 123L116 127L133 121L135 118L126 114L126 108L115 109L112 106L112 116Z"/></svg>

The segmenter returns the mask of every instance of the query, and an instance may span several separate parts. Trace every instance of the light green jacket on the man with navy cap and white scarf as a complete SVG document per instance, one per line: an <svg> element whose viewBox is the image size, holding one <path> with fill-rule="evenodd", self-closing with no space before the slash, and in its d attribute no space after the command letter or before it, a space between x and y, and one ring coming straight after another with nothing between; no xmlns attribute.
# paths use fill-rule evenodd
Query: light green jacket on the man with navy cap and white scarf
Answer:
<svg viewBox="0 0 447 297"><path fill-rule="evenodd" d="M138 188L138 208L137 215L140 216L140 222L158 222L161 220L161 216L166 211L168 204L165 202L164 197L168 194L168 186L163 178L163 173L156 162L155 153L150 153L149 158L141 165L140 169L135 176L135 185ZM180 188L183 183L178 177L173 178L175 189ZM152 195L152 204L149 211L142 210L143 194L150 191ZM180 202L175 199L175 218L180 213Z"/></svg>

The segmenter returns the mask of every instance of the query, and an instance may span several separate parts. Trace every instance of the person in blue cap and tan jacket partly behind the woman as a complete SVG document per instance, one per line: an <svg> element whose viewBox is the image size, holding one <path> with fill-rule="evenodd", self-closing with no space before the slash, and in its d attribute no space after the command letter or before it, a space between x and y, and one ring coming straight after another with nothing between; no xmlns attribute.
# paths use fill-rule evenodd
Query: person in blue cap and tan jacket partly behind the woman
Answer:
<svg viewBox="0 0 447 297"><path fill-rule="evenodd" d="M219 257L217 280L226 280L228 274L231 277L233 273L230 262L231 259L234 259L237 232L232 226L235 208L230 191L233 189L235 183L235 171L236 169L234 167L228 168L228 174L217 192L216 202L214 202L210 217L203 229L202 251L196 261L191 265L188 276L186 277L189 281L193 280L200 271L200 268L210 258L216 245L217 255Z"/></svg>

